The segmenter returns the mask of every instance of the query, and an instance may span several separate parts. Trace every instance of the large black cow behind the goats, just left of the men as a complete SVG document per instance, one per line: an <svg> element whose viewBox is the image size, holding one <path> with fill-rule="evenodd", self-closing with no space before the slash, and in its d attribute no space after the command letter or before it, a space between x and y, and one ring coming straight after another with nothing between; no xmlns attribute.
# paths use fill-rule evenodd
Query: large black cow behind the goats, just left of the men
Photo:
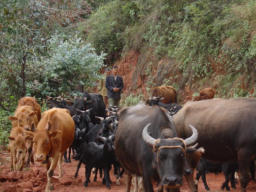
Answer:
<svg viewBox="0 0 256 192"><path fill-rule="evenodd" d="M86 111L92 108L90 112L92 124L98 123L98 119L95 116L106 116L105 104L103 102L103 97L100 94L84 92L82 98L75 97L74 108L77 108L81 111ZM75 113L78 115L78 111L75 111Z"/></svg>

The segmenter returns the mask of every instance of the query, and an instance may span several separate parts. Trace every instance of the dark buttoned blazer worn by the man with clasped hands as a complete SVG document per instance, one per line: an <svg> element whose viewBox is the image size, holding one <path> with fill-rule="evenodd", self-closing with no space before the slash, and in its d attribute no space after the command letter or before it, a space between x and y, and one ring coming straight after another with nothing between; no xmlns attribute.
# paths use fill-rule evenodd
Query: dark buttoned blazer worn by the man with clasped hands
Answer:
<svg viewBox="0 0 256 192"><path fill-rule="evenodd" d="M124 88L123 78L117 75L116 81L115 81L113 74L110 76L107 76L105 87L108 89L108 98L121 99L121 91ZM119 88L120 90L118 92L114 92L113 91L114 87Z"/></svg>

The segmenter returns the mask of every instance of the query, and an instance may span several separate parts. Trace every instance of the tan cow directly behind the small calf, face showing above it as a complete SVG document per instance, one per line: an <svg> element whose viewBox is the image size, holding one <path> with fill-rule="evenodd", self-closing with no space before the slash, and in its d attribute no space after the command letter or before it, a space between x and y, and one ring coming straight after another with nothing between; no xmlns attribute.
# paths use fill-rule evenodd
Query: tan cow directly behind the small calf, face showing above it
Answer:
<svg viewBox="0 0 256 192"><path fill-rule="evenodd" d="M8 119L12 120L12 127L22 127L25 130L31 130L31 123L34 122L35 125L38 124L37 120L37 111L34 111L34 108L31 106L20 106L15 110L14 116L9 116ZM34 157L32 152L33 140L30 139L28 146L28 159L27 166L29 167L29 160L31 163L34 163Z"/></svg>

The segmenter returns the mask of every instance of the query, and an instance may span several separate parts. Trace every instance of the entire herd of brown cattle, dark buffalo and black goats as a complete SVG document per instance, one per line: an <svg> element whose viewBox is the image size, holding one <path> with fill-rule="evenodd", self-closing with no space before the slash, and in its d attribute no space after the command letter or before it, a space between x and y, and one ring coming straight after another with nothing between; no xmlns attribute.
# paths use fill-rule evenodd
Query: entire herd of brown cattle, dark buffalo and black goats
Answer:
<svg viewBox="0 0 256 192"><path fill-rule="evenodd" d="M76 154L72 158L79 161L75 177L81 164L85 165L85 187L91 172L96 181L97 172L102 177L103 171L102 183L110 188L112 165L117 185L125 172L126 192L132 179L138 187L134 191L153 192L152 181L158 183L158 192L180 191L183 175L191 192L197 191L201 175L205 189L210 190L205 180L208 171L223 171L226 181L222 188L228 191L229 180L236 188L238 167L242 192L246 191L249 170L255 179L256 99L223 100L214 98L213 90L206 88L181 107L171 86L156 87L144 102L127 108L105 109L102 96L88 92L74 100L48 99L51 109L42 116L36 99L23 97L14 116L8 117L12 120L8 137L11 171L18 170L20 158L22 170L28 151L25 166L34 163L34 158L46 166L47 192L53 190L57 164L59 179L62 176L63 155L66 163L71 162L71 150ZM195 169L199 171L196 181Z"/></svg>

